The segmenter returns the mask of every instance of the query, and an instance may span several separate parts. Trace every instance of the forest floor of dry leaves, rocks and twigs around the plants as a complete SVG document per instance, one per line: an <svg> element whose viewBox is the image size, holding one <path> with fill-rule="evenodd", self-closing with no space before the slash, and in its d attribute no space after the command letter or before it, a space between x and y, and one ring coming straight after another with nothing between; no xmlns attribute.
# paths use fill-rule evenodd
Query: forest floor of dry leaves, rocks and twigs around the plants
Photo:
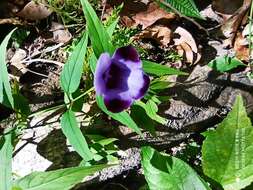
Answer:
<svg viewBox="0 0 253 190"><path fill-rule="evenodd" d="M22 2L9 1L0 7L0 39L15 26L20 29L7 51L8 69L35 112L63 101L60 72L85 29L85 19L78 3L29 8L27 3L31 2ZM123 8L119 8L122 2ZM188 163L197 168L203 142L201 133L226 117L238 94L243 96L249 115L253 113L253 83L247 76L250 68L242 66L219 72L208 66L212 60L224 56L235 56L248 64L249 5L231 3L224 8L212 5L211 1L195 3L205 19L167 12L149 0L93 2L105 23L110 22L107 20L110 15L119 14L115 44L131 43L140 50L143 59L188 75L169 76L171 86L162 94L170 100L160 104L158 110L167 122L156 126L155 137L144 132L141 138L108 118L94 104L94 94L90 95L93 98L83 106L78 121L82 126L100 130L106 137L120 139L115 142L120 149L120 165L97 174L92 179L95 184L91 181L76 189L139 189L145 184L140 166L142 145L187 157ZM86 85L86 80L83 77L81 85ZM60 116L54 112L31 118L14 151L13 172L17 176L76 166L80 162L60 130ZM0 129L11 125L13 117L10 110L0 105Z"/></svg>

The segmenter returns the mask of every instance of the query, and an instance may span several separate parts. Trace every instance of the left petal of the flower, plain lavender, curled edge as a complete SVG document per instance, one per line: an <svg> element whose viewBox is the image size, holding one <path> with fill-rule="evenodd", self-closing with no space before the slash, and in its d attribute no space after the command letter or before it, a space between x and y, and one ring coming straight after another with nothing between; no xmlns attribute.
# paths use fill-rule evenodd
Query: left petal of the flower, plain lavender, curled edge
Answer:
<svg viewBox="0 0 253 190"><path fill-rule="evenodd" d="M97 61L97 67L94 74L94 87L98 95L102 95L106 91L106 81L103 78L103 74L111 66L112 60L108 53L100 55Z"/></svg>

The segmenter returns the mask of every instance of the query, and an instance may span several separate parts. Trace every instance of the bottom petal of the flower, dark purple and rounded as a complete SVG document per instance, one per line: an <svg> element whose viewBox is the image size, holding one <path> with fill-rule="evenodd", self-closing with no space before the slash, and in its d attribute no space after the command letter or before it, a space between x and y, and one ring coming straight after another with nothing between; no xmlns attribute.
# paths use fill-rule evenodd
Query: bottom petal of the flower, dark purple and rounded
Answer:
<svg viewBox="0 0 253 190"><path fill-rule="evenodd" d="M105 96L104 103L110 112L118 113L130 107L133 100L124 96Z"/></svg>

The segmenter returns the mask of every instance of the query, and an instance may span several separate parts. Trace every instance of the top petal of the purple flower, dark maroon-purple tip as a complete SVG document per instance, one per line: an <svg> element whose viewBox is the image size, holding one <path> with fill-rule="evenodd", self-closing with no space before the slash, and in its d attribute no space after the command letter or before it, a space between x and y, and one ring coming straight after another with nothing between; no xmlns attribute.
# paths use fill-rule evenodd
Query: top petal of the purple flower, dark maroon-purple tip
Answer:
<svg viewBox="0 0 253 190"><path fill-rule="evenodd" d="M140 60L138 52L135 50L133 46L125 46L118 48L112 59L115 59L129 68L141 68L142 62Z"/></svg>

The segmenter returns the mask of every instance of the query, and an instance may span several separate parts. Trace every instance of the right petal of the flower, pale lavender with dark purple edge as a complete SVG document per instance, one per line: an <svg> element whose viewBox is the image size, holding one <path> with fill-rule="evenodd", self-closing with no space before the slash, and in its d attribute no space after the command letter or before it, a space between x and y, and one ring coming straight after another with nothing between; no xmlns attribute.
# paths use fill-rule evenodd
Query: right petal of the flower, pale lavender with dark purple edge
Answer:
<svg viewBox="0 0 253 190"><path fill-rule="evenodd" d="M149 77L142 70L132 70L128 78L129 93L132 98L142 98L148 90L150 83Z"/></svg>

